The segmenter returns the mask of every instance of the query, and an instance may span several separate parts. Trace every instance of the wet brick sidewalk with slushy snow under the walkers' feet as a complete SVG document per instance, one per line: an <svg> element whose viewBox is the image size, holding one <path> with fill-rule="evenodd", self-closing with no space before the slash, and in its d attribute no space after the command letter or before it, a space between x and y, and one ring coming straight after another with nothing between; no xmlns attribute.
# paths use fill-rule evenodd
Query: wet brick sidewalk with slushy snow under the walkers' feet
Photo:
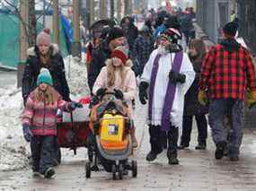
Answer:
<svg viewBox="0 0 256 191"><path fill-rule="evenodd" d="M31 170L0 172L0 190L155 190L155 191L255 191L256 190L256 130L245 130L241 159L237 162L216 161L215 146L207 139L207 150L196 151L197 131L193 129L190 149L180 151L180 165L170 166L166 152L154 162L145 160L149 151L145 126L146 108L137 104L137 137L140 147L134 155L138 163L138 176L112 180L111 174L101 170L92 172L86 179L84 164L86 150L81 148L74 156L72 151L62 150L63 162L57 167L57 178L32 178Z"/></svg>

